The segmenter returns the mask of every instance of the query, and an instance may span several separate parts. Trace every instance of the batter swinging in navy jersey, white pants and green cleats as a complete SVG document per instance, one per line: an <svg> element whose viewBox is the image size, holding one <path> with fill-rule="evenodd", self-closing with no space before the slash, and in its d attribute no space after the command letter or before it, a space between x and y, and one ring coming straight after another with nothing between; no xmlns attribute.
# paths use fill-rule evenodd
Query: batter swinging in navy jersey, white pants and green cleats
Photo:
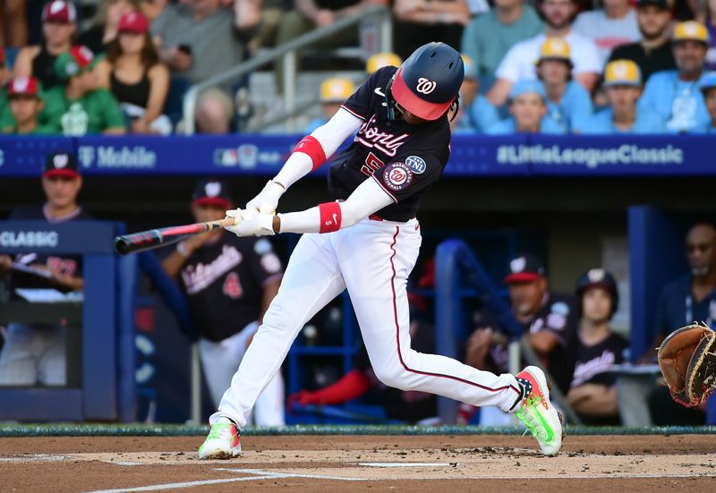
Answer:
<svg viewBox="0 0 716 493"><path fill-rule="evenodd" d="M443 43L416 49L400 67L373 73L328 123L301 140L278 174L227 229L239 236L303 234L281 287L232 378L200 458L241 453L239 435L261 390L316 312L347 289L377 378L389 387L444 395L515 413L546 455L562 445L562 425L541 369L496 375L411 348L407 277L421 244L415 217L449 157L449 118L463 82L460 54ZM294 183L353 143L328 171L333 201L273 215Z"/></svg>

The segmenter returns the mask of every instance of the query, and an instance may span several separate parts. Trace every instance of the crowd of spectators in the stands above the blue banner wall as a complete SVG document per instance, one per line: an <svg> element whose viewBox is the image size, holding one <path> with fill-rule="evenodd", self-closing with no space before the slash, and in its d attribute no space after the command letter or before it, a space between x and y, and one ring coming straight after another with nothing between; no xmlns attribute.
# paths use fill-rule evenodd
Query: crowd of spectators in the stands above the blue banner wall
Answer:
<svg viewBox="0 0 716 493"><path fill-rule="evenodd" d="M675 0L605 0L598 9L577 0L52 0L39 13L16 0L0 10L0 129L181 133L192 84L369 4L392 8L396 54L387 63L431 39L465 54L457 132L716 129L714 0L695 10ZM358 44L356 28L318 48ZM275 64L277 105L282 71ZM245 86L204 90L197 132L240 130Z"/></svg>

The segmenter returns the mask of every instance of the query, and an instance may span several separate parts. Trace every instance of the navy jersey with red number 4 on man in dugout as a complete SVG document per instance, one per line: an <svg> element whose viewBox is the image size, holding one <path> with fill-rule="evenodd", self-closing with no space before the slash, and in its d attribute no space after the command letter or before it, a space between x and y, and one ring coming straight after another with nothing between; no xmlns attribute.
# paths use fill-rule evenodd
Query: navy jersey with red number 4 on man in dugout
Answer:
<svg viewBox="0 0 716 493"><path fill-rule="evenodd" d="M263 285L280 276L281 261L266 238L222 234L184 262L179 283L200 336L218 342L259 318Z"/></svg>

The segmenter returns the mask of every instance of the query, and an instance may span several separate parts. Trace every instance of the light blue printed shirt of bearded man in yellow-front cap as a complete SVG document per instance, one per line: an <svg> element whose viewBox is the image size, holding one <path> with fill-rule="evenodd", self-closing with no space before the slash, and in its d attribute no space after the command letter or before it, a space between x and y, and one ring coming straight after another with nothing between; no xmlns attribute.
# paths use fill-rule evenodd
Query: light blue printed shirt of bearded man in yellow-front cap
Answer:
<svg viewBox="0 0 716 493"><path fill-rule="evenodd" d="M669 133L692 132L711 122L699 81L681 81L676 70L654 73L637 107L639 112L651 109Z"/></svg>

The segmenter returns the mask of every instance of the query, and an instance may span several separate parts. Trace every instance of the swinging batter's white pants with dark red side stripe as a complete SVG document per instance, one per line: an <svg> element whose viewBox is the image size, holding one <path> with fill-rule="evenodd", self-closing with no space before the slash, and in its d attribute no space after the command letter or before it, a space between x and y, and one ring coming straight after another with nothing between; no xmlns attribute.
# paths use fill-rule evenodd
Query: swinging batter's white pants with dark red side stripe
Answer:
<svg viewBox="0 0 716 493"><path fill-rule="evenodd" d="M345 289L373 371L383 383L510 410L521 392L514 376L494 375L411 349L405 287L421 242L415 219L406 223L363 219L335 233L304 234L263 324L209 422L224 416L243 427L303 325Z"/></svg>

